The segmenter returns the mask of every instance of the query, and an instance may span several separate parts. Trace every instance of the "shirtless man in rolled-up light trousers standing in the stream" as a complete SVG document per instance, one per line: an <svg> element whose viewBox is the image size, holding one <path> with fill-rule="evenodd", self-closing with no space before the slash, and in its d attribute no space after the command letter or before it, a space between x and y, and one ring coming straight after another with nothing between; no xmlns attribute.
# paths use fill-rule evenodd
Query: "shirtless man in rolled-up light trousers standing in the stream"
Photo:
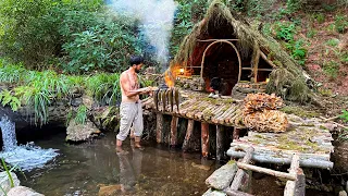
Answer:
<svg viewBox="0 0 348 196"><path fill-rule="evenodd" d="M144 59L139 56L130 58L130 66L122 72L120 76L120 86L122 93L122 101L120 106L120 132L116 135L116 151L126 152L122 149L122 142L126 139L130 126L134 126L135 147L141 148L140 138L144 130L142 108L139 100L140 94L149 93L149 90L138 91L139 83L137 73L140 72Z"/></svg>

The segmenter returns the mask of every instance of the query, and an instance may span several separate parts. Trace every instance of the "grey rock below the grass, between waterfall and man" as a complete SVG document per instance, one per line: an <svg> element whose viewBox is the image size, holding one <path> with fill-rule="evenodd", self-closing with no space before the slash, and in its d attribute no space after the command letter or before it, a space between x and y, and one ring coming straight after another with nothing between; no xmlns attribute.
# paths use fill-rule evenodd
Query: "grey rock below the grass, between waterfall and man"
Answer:
<svg viewBox="0 0 348 196"><path fill-rule="evenodd" d="M83 142L96 136L100 131L96 125L87 120L86 124L77 124L74 120L70 121L66 128L66 140Z"/></svg>

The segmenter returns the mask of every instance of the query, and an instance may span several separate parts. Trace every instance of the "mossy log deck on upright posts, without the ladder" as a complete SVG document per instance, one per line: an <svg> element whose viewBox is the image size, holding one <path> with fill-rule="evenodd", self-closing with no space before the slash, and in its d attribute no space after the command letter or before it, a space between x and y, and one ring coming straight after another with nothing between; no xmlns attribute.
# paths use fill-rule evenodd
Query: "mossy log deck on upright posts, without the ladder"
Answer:
<svg viewBox="0 0 348 196"><path fill-rule="evenodd" d="M183 150L192 134L194 122L201 122L201 149L202 156L207 157L209 151L209 124L216 125L216 159L221 159L222 131L224 126L233 126L233 143L227 155L233 158L241 158L244 152L237 148L253 147L252 160L257 162L290 164L294 154L300 157L300 167L332 169L330 161L331 152L334 150L332 135L325 123L319 119L303 120L289 114L290 127L284 133L257 133L249 131L247 136L239 138L239 130L246 128L243 124L243 101L231 98L208 98L208 95L199 91L181 90L183 100L179 110L175 106L173 111L167 105L163 108L160 101L158 110L152 98L142 102L147 110L157 112L157 142L162 143L163 114L172 115L170 145L176 145L178 118L188 119L186 137Z"/></svg>

